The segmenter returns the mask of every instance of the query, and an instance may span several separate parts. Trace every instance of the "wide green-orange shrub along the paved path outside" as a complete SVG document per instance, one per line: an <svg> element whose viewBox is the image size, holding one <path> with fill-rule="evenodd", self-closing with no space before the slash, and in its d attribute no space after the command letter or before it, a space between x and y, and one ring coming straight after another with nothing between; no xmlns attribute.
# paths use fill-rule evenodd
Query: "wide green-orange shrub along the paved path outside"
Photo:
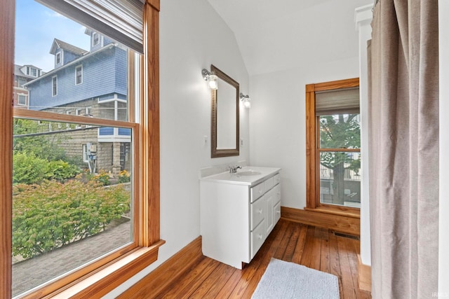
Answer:
<svg viewBox="0 0 449 299"><path fill-rule="evenodd" d="M105 230L129 210L130 192L95 181L13 186L13 255L31 258Z"/></svg>

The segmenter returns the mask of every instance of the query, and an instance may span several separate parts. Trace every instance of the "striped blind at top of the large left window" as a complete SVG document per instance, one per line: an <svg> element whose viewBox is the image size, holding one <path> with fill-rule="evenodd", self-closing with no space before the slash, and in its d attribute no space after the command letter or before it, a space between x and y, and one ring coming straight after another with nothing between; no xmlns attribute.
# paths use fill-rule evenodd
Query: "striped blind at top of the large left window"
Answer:
<svg viewBox="0 0 449 299"><path fill-rule="evenodd" d="M145 0L36 0L41 4L143 53Z"/></svg>

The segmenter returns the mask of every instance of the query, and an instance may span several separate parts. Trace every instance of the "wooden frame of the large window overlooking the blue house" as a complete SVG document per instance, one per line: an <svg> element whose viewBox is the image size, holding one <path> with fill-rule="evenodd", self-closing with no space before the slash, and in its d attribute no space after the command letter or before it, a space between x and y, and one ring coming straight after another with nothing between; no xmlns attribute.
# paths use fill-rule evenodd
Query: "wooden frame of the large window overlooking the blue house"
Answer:
<svg viewBox="0 0 449 299"><path fill-rule="evenodd" d="M0 44L0 299L11 298L11 243L12 243L12 145L13 115L27 117L36 115L31 111L14 111L13 71L14 71L14 31L15 0L4 0L0 4L0 32L11 43ZM140 166L138 192L140 209L138 242L132 250L117 251L114 260L106 265L92 263L83 268L83 277L72 281L62 278L51 286L43 286L25 298L99 298L133 277L157 260L159 247L165 242L160 239L159 202L159 0L146 0L144 8L144 55L140 78L140 126L136 127L139 136ZM130 74L132 76L132 74ZM132 78L131 78L132 80ZM130 90L129 97L133 97ZM129 109L135 109L130 105ZM29 114L28 114L29 113ZM46 112L41 116L45 118ZM81 116L70 116L78 122ZM53 117L55 119L57 117ZM67 116L61 116L66 119ZM130 122L135 121L130 119ZM88 123L97 120L89 119ZM104 123L98 120L98 124ZM107 120L106 120L107 122ZM81 122L82 123L82 122ZM114 121L114 125L117 122ZM129 123L123 123L128 125Z"/></svg>

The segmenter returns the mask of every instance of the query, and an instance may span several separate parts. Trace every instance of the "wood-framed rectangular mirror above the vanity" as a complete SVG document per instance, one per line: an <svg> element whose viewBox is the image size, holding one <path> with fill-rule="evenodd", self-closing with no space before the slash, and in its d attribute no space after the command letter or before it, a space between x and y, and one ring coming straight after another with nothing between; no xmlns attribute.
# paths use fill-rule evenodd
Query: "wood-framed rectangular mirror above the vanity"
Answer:
<svg viewBox="0 0 449 299"><path fill-rule="evenodd" d="M239 155L239 83L214 65L210 65L210 71L218 77L218 89L210 93L210 155L212 158Z"/></svg>

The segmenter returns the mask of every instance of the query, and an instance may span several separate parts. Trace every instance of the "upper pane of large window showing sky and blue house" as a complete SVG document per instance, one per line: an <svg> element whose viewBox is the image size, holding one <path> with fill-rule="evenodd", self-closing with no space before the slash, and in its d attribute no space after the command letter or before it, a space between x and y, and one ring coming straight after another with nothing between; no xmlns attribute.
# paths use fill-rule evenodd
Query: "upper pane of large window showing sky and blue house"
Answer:
<svg viewBox="0 0 449 299"><path fill-rule="evenodd" d="M28 109L128 120L126 47L36 1L16 9L15 79L26 81Z"/></svg>

